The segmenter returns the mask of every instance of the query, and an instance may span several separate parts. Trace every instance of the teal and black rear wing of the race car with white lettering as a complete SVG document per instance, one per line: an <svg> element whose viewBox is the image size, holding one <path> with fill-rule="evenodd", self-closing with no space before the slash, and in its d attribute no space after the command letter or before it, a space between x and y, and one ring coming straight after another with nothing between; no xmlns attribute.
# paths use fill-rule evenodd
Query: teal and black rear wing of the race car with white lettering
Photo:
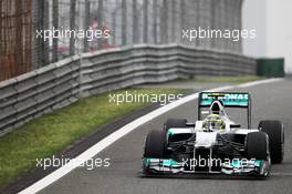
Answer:
<svg viewBox="0 0 292 194"><path fill-rule="evenodd" d="M247 109L248 127L251 126L251 98L244 92L201 92L199 93L198 120L201 120L201 108L209 108L220 100L225 108Z"/></svg>

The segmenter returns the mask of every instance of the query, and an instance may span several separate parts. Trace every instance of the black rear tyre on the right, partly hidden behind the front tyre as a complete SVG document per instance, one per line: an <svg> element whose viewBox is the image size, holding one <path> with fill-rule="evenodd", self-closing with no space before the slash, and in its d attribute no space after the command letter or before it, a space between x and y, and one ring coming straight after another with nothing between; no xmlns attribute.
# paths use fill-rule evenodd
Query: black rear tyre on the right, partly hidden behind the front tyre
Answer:
<svg viewBox="0 0 292 194"><path fill-rule="evenodd" d="M284 129L280 121L261 121L259 130L269 136L271 162L279 164L284 159Z"/></svg>

